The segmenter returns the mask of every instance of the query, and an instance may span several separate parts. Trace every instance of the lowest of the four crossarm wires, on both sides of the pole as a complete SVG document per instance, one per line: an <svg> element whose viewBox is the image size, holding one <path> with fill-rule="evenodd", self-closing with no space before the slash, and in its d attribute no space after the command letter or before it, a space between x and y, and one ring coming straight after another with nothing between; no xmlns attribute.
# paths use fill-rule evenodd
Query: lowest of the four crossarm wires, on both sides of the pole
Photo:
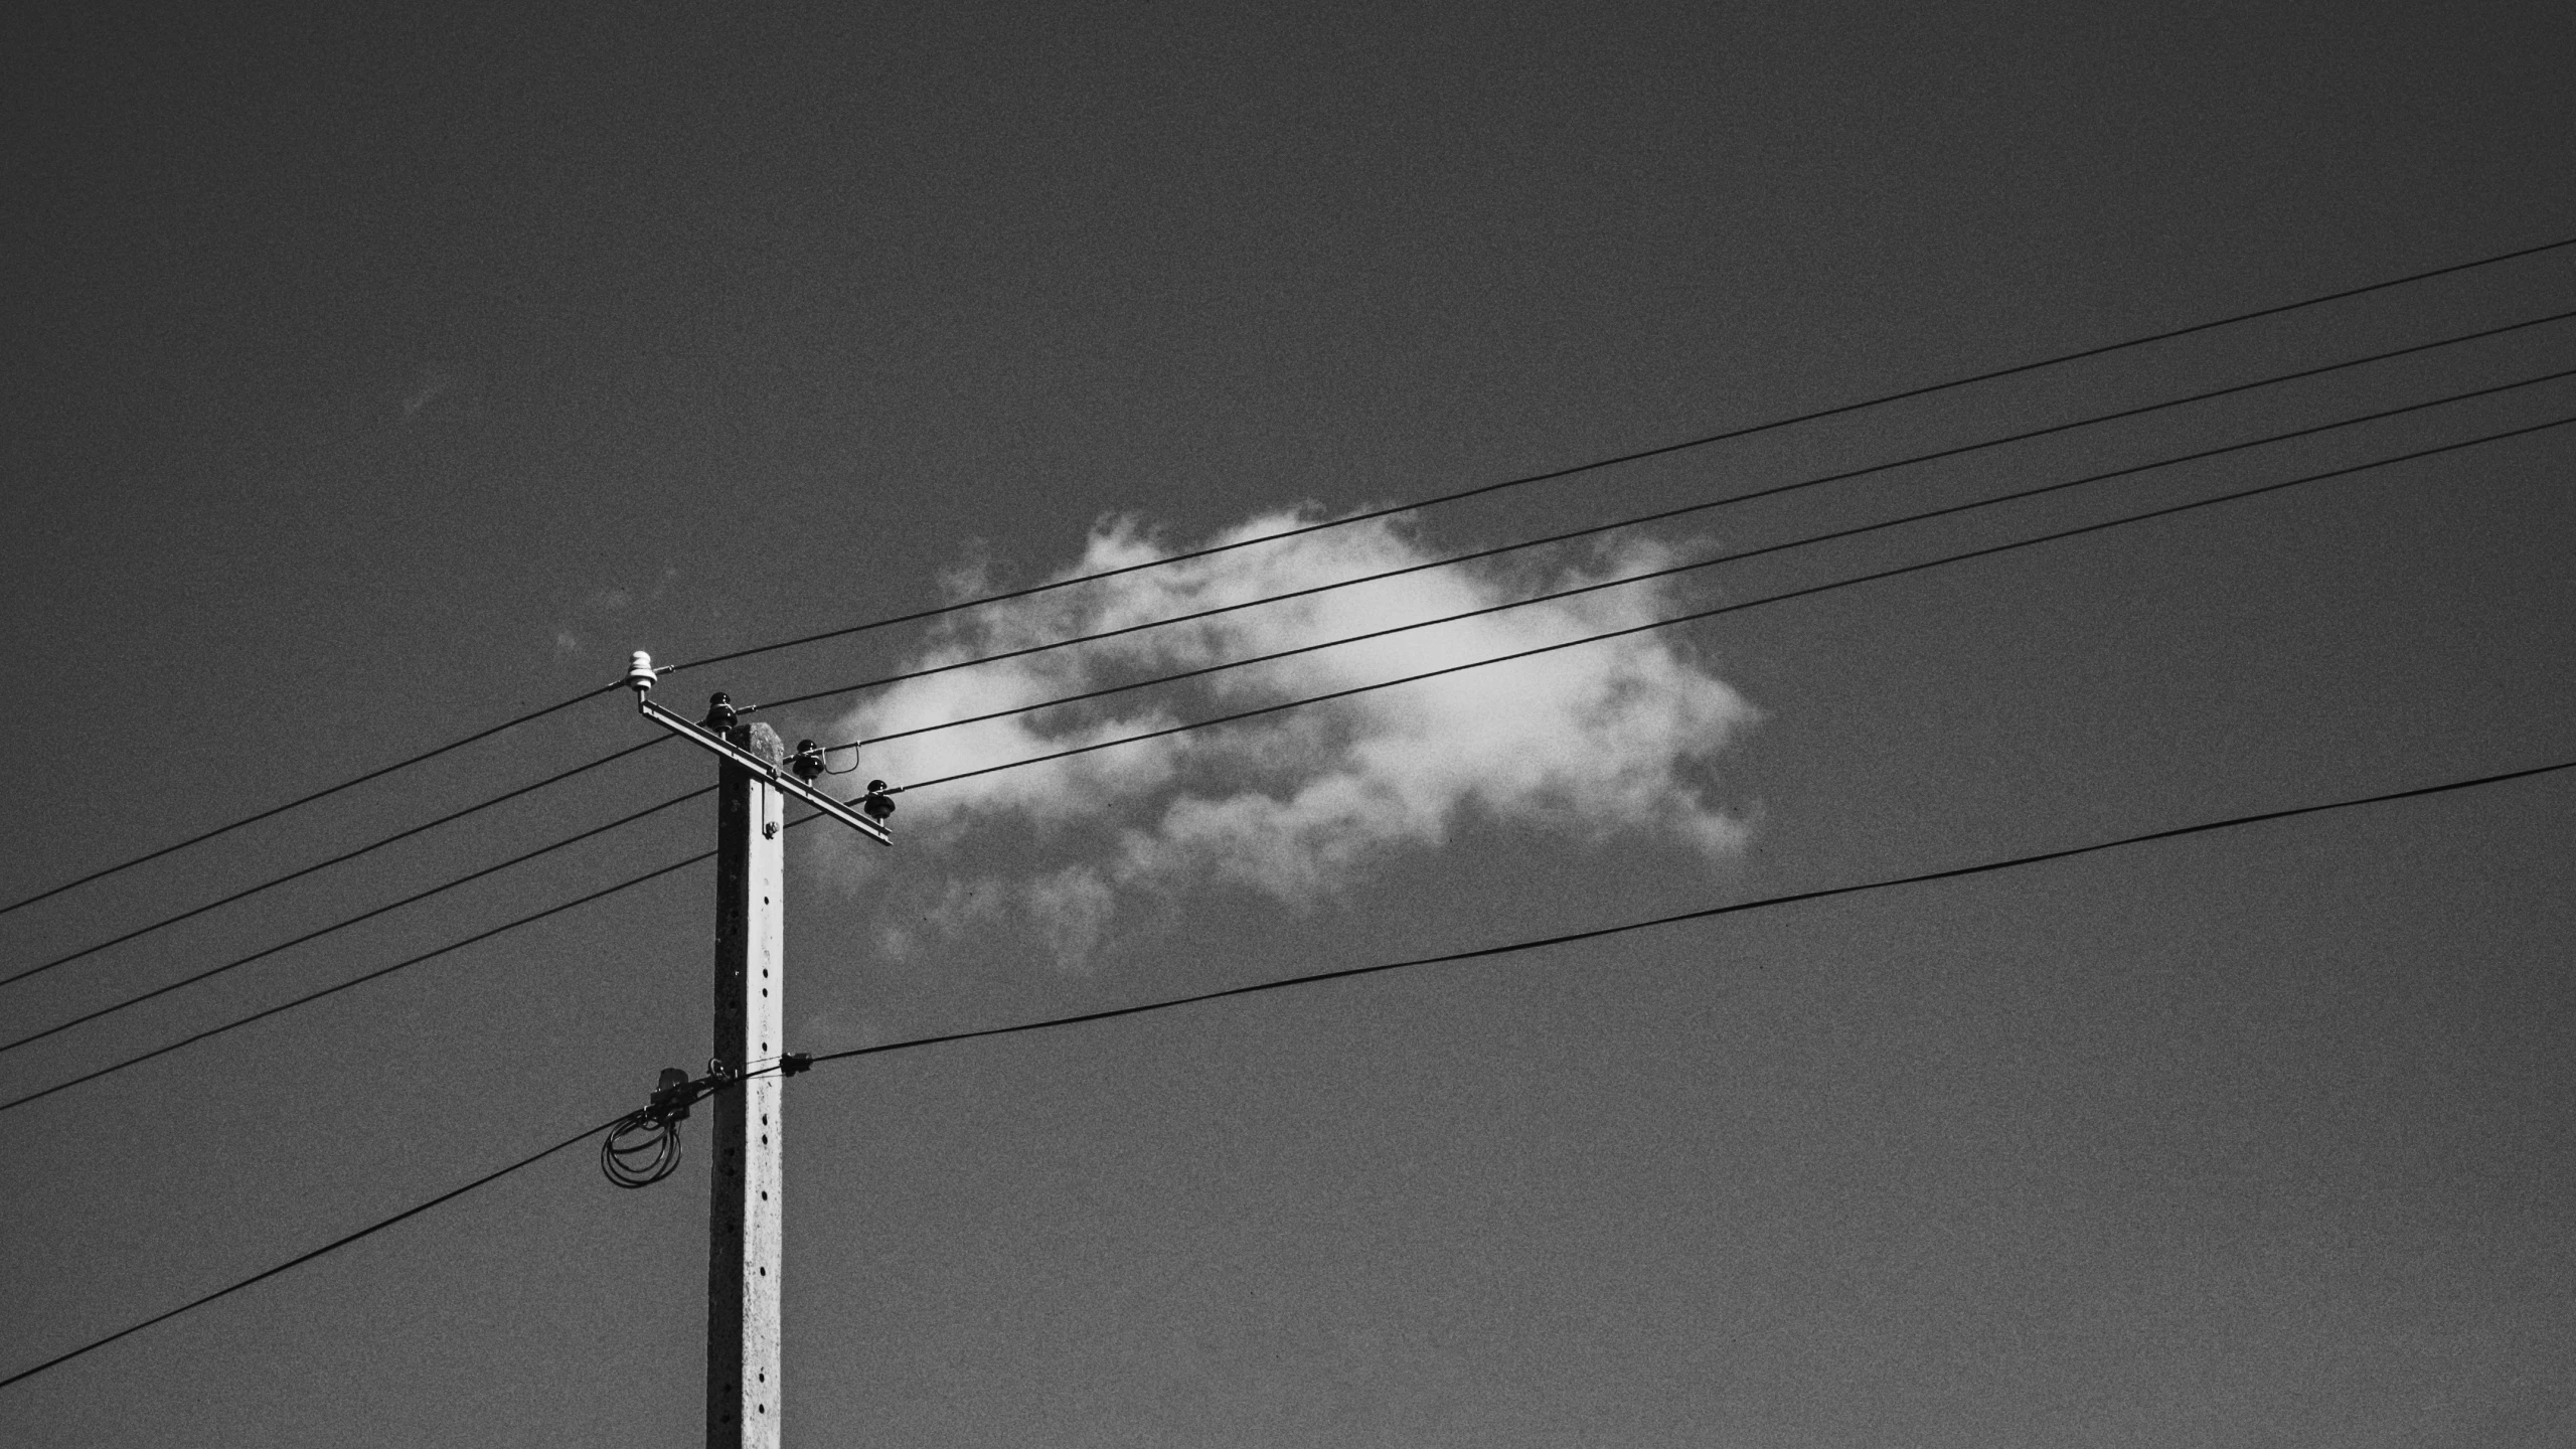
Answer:
<svg viewBox="0 0 2576 1449"><path fill-rule="evenodd" d="M1030 755L1030 758L1023 758L1023 761L1005 761L1005 763L997 763L997 766L981 766L981 768L974 768L974 771L958 771L958 773L948 773L948 776L912 781L912 784L889 789L889 794L896 794L896 792L904 792L904 789L925 789L925 786L951 784L951 781L958 781L958 779L974 779L974 776L981 776L981 773L997 773L997 771L1010 771L1010 768L1033 766L1033 763L1046 763L1046 761L1054 761L1054 758L1082 755L1082 753L1105 750L1105 748L1115 748L1115 745L1133 745L1133 743L1154 740L1154 737L1162 737L1162 735L1180 735L1180 732L1190 732L1190 730L1208 730L1208 727L1216 727L1216 724L1231 724L1231 722L1252 719L1252 717L1260 717L1260 714L1278 714L1278 712L1285 712L1285 709L1301 709L1301 706L1309 706L1309 704L1324 704L1324 701L1332 701L1332 699L1347 699L1347 696L1355 696L1355 694L1370 694L1370 691L1378 691L1378 688L1394 688L1394 686L1417 683L1417 681L1425 681L1425 678L1440 678L1440 676L1463 673L1463 670L1473 670L1473 668L1512 663L1512 660L1520 660L1520 657L1546 655L1546 652L1553 652L1553 650L1597 645L1602 639L1615 639L1615 637L1623 637L1623 634L1641 634L1641 632L1649 632L1649 629L1667 629L1667 627L1674 627L1674 624L1687 624L1687 621L1698 621L1698 619L1713 619L1713 616L1721 616L1721 614L1736 614L1736 611L1759 608L1759 606L1767 606L1767 603L1785 603L1790 598L1808 598L1808 596L1832 593L1832 590L1839 590L1839 588L1855 588L1855 585L1862 585L1862 583L1878 583L1878 580L1901 578L1901 575L1911 575L1911 572L1937 570L1937 567L1947 567L1947 565L1958 565L1958 562L1968 562L1968 559L2007 554L2007 552L2014 552L2014 549L2027 549L2027 547L2038 547L2038 544L2053 544L2053 541L2074 539L2074 536L2084 536L2084 534L2099 534L2099 531L2107 531L2107 529L2123 529L2128 523L2146 523L2146 521L2154 521L2154 518L2172 518L2177 513L2190 513L2190 511L2197 511L2197 508L2213 508L2213 505L2221 505L2221 503L2239 503L2244 498L2257 498L2257 495L2264 495L2264 492L2280 492L2280 490L2287 490L2287 487L2300 487L2300 485L2324 482L2324 480L2334 480L2334 477L2349 477L2349 474L2360 474L2360 472L2378 469L2378 467L2396 467L2396 464L2403 464L2403 462L2416 462L2416 459L2427 459L2427 456L2452 454L2452 451L2473 449L2473 446L2481 446L2481 443L2494 443L2494 441L2519 438L2519 436L2530 436L2530 433L2543 433L2543 431L2550 431L2550 428L2563 428L2568 423L2576 423L2576 415L2555 418L2555 420L2548 420L2548 423L2532 423L2532 425L2524 425L2524 428L2509 428L2509 431L2499 431L2499 433L2486 433L2486 436L2478 436L2478 438L2463 438L2463 441L2452 441L2452 443L2439 443L2439 446L2429 446L2429 449L2416 449L2416 451L2396 454L2396 456L2385 456L2385 459L2370 459L2370 462L2360 462L2360 464L2347 464L2347 467L2336 467L2336 469L2326 469L2326 472L2313 472L2313 474L2303 474L2303 477L2293 477L2293 480L2254 485L2254 487L2236 490L2236 492L2223 492L2223 495L2197 498L2197 500L2187 500L2187 503L2174 503L2174 505L2154 508L2154 511L2146 511L2146 513L2128 513L2128 516L2120 516L2120 518L2105 518L2105 521L2081 523L2081 526L2074 526L2074 529L2058 529L2058 531L2030 536L2030 539L2012 539L2012 541L2004 541L2004 544L1989 544L1989 547L1978 547L1978 549L1942 554L1942 557L1935 557L1935 559L1922 559L1922 562L1911 562L1911 565L1896 565L1896 567L1886 567L1886 570L1873 570L1873 572L1865 572L1865 575L1852 575L1852 578L1839 578L1839 580L1824 580L1824 583L1793 588L1793 590L1785 590L1785 593L1772 593L1772 596L1762 596L1762 598L1747 598L1747 601L1723 603L1723 606L1716 606L1716 608L1703 608L1703 611L1682 614L1682 616L1674 616L1674 619L1656 619L1656 621L1646 621L1646 624L1636 624L1636 627L1625 627L1625 629L1613 629L1613 632L1587 634L1587 637L1579 637L1579 639L1564 639L1564 642L1556 642L1556 645L1540 645L1540 647L1520 650L1520 652L1510 652L1510 655L1494 655L1494 657L1484 657L1484 660L1471 660L1471 663L1463 663L1463 665L1448 665L1448 668L1437 668L1437 670L1422 670L1422 673L1412 673L1412 676L1401 676L1401 678L1391 678L1391 681L1376 681L1376 683L1363 683L1363 686L1340 688L1340 691L1329 691L1329 694L1291 699L1291 701L1280 701L1280 704L1265 704L1265 706L1257 706L1257 709L1221 714L1221 717L1213 717L1213 719L1195 719L1195 722L1172 724L1172 727L1164 727L1164 730L1146 730L1146 732L1139 732L1139 735L1123 735L1123 737L1115 737L1115 740L1097 740L1097 743L1090 743L1090 745L1074 745L1074 748L1066 748L1066 750L1056 750L1056 753L1046 753L1046 755ZM786 828L796 830L796 828L809 825L814 820L822 820L822 815L817 812L817 815L806 815L801 820L791 820ZM209 1036L219 1036L219 1034L232 1031L237 1026L247 1026L252 1021L263 1021L268 1016L278 1016L281 1011L291 1011L296 1006L307 1006L312 1000L322 1000L327 995L340 993L340 990L348 990L348 987L355 987L355 985L386 977L386 975L399 972L404 967L428 962L433 957L443 957L443 954L456 951L461 946L471 946L474 941L484 941L489 936L500 936L502 931L513 931L518 926L528 926L533 920L544 920L544 918L556 915L562 910L572 910L577 905L587 905L592 900L616 895L621 890L644 884L649 879L665 877L670 871L677 871L683 866L693 866L693 864L701 864L701 861L708 861L708 859L714 859L714 851L703 851L698 856L688 856L683 861L672 861L667 866L644 871L639 877L629 877L623 882L608 884L608 887L595 890L590 895L582 895L577 900L569 900L569 902L562 902L562 905L551 905L551 908L538 910L533 915L523 915L518 920L495 926L495 928L482 931L477 936L469 936L464 941L453 941L448 946L438 946L433 951L422 951L417 957L394 962L389 967L379 967L379 969L366 972L361 977L350 977L345 982L335 982L335 985L319 987L319 990L307 993L301 998L268 1006L268 1008L255 1011L250 1016L242 1016L242 1018L234 1018L234 1021L227 1021L227 1024L196 1031L196 1034L183 1036L178 1042L170 1042L165 1047L155 1047L149 1052L139 1052L134 1057L126 1057L126 1060L111 1062L106 1067L90 1070L85 1075L77 1075L77 1078L70 1078L70 1080L39 1088L39 1091L18 1096L13 1101L0 1101L0 1111L10 1111L10 1109L26 1106L31 1101L39 1101L44 1096L52 1096L57 1091L64 1091L64 1088L72 1088L72 1085L80 1085L80 1083L88 1083L88 1080L106 1078L111 1073L142 1065L147 1060L162 1057L167 1052L175 1052L180 1047L204 1042Z"/></svg>

